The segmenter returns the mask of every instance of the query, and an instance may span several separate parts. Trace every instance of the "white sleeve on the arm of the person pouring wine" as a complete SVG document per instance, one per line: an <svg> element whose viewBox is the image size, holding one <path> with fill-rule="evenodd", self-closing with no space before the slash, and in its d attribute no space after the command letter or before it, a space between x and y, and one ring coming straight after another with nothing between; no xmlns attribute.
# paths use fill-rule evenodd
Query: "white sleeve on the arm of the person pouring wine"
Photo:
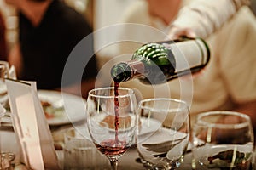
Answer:
<svg viewBox="0 0 256 170"><path fill-rule="evenodd" d="M206 38L249 3L250 0L195 0L181 9L172 26L190 28Z"/></svg>

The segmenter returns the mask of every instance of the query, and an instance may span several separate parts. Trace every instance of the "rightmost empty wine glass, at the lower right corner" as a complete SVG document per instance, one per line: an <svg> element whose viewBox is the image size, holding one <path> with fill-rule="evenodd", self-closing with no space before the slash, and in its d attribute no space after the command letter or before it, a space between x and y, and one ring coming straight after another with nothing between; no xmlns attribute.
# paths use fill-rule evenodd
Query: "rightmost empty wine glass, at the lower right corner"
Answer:
<svg viewBox="0 0 256 170"><path fill-rule="evenodd" d="M251 169L253 127L235 111L209 111L196 117L192 131L194 169Z"/></svg>

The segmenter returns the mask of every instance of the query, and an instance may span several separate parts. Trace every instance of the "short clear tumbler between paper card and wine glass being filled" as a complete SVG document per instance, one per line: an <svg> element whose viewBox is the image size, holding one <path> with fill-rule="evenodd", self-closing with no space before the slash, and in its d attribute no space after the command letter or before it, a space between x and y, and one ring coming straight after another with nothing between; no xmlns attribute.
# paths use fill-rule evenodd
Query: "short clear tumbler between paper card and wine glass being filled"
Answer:
<svg viewBox="0 0 256 170"><path fill-rule="evenodd" d="M71 128L64 134L64 169L109 169L108 158L102 155L91 140L84 136L83 130L85 131L86 127L84 129Z"/></svg>

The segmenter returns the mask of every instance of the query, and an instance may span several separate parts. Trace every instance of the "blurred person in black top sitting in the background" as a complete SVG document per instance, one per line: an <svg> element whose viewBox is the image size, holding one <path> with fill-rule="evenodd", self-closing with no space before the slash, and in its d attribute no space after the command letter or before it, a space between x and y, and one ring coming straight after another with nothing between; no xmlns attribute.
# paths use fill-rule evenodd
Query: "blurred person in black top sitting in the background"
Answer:
<svg viewBox="0 0 256 170"><path fill-rule="evenodd" d="M86 97L94 88L94 56L83 56L91 59L82 82L70 77L70 82L61 88L62 72L69 54L92 32L84 16L60 0L5 2L14 5L19 14L19 43L9 54L9 63L15 65L18 79L36 81L38 89L62 89L70 94L82 92ZM84 50L93 50L92 40ZM78 91L80 86L81 92Z"/></svg>

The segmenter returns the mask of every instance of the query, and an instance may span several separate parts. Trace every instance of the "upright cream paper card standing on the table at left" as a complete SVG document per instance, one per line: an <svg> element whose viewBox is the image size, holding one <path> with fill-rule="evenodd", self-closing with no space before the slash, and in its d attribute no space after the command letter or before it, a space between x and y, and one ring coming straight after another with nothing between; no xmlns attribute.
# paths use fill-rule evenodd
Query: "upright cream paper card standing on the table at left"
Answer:
<svg viewBox="0 0 256 170"><path fill-rule="evenodd" d="M36 82L6 80L23 161L32 169L60 169Z"/></svg>

